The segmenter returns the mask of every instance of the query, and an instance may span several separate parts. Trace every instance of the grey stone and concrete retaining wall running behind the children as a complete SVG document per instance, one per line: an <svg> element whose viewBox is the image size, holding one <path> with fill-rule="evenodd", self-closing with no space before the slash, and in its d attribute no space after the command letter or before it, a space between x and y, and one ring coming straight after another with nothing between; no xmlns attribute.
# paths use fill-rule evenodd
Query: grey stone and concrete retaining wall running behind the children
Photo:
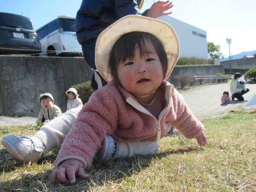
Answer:
<svg viewBox="0 0 256 192"><path fill-rule="evenodd" d="M168 81L179 87L176 75L224 73L222 65L175 67ZM39 95L51 93L54 102L67 110L65 91L91 80L92 70L84 58L0 56L0 116L38 116ZM211 83L205 80L204 83Z"/></svg>

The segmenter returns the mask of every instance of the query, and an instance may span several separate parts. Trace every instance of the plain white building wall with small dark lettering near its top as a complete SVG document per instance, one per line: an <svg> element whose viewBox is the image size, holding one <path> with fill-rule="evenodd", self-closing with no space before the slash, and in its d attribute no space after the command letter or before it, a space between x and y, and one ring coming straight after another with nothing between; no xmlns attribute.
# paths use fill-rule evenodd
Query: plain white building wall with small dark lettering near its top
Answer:
<svg viewBox="0 0 256 192"><path fill-rule="evenodd" d="M180 41L180 58L208 59L206 31L184 23L168 15L157 18L169 23Z"/></svg>

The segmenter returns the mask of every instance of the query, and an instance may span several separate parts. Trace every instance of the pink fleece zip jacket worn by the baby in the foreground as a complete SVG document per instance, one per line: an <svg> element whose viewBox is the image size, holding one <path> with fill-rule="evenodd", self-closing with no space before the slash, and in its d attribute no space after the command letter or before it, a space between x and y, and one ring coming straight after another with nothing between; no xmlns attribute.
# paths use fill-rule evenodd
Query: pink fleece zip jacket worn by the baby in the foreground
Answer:
<svg viewBox="0 0 256 192"><path fill-rule="evenodd" d="M167 81L159 89L165 92L166 106L156 119L121 86L111 81L92 94L67 134L55 166L67 159L77 159L89 169L105 136L119 142L156 141L172 126L186 138L202 133L204 125L192 114L183 96Z"/></svg>

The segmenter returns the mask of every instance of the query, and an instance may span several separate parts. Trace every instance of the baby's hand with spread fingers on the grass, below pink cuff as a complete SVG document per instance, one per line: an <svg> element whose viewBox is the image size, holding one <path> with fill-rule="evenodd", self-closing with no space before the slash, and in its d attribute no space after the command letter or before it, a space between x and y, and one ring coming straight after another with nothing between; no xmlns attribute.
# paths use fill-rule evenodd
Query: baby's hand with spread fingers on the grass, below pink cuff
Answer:
<svg viewBox="0 0 256 192"><path fill-rule="evenodd" d="M51 180L59 181L61 184L73 184L76 177L86 179L89 177L84 171L84 163L76 159L65 160L61 165L52 170Z"/></svg>

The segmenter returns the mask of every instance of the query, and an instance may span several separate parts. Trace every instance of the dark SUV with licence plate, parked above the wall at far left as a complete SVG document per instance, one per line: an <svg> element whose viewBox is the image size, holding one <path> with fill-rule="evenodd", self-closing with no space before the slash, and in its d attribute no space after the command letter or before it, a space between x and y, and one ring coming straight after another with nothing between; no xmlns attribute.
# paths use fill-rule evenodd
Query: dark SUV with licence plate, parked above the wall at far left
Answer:
<svg viewBox="0 0 256 192"><path fill-rule="evenodd" d="M39 55L41 44L31 19L0 12L0 54Z"/></svg>

